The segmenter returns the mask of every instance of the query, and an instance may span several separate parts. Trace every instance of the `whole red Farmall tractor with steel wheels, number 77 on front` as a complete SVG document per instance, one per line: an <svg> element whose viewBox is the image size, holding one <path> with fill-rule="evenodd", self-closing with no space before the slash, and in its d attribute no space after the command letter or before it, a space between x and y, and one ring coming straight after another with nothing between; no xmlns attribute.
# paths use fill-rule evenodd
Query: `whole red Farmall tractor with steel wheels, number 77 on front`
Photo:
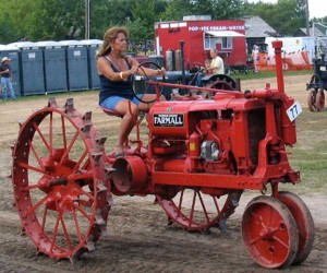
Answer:
<svg viewBox="0 0 327 273"><path fill-rule="evenodd" d="M279 183L300 182L286 146L296 142L301 111L284 93L281 46L274 41L278 90L198 87L214 97L156 102L148 143L137 133L123 157L105 152L92 114L81 115L72 99L59 107L51 98L22 122L13 149L14 204L38 252L74 259L94 251L107 234L113 195L154 194L170 224L225 230L243 191L270 186L271 195L259 194L245 209L244 244L264 268L302 263L313 248L314 223L298 195L279 190ZM158 93L162 86L195 88L150 84Z"/></svg>

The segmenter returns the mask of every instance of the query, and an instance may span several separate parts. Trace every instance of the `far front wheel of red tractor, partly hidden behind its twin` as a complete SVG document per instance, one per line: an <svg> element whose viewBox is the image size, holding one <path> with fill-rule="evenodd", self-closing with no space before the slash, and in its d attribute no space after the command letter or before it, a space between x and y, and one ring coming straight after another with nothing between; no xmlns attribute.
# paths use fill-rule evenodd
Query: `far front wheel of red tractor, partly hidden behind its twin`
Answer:
<svg viewBox="0 0 327 273"><path fill-rule="evenodd" d="M315 237L314 222L306 204L296 194L289 191L280 191L278 199L286 204L296 222L299 249L293 264L300 264L307 258L313 248Z"/></svg>

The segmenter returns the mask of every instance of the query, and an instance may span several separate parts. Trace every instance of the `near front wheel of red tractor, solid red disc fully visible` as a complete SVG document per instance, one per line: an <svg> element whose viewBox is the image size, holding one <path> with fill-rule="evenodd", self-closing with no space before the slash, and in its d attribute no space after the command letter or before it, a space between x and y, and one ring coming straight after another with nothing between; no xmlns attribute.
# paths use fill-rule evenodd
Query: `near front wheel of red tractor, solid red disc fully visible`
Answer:
<svg viewBox="0 0 327 273"><path fill-rule="evenodd" d="M250 254L264 268L287 268L295 259L296 223L288 207L272 197L261 195L247 204L242 234Z"/></svg>

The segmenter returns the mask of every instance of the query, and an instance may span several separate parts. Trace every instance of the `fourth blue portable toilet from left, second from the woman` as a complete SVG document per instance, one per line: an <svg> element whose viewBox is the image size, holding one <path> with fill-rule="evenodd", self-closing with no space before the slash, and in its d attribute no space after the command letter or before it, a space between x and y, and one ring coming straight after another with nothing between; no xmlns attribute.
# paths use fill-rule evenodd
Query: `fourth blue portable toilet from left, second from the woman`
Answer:
<svg viewBox="0 0 327 273"><path fill-rule="evenodd" d="M69 91L88 90L86 46L78 40L61 40L59 44L65 48Z"/></svg>

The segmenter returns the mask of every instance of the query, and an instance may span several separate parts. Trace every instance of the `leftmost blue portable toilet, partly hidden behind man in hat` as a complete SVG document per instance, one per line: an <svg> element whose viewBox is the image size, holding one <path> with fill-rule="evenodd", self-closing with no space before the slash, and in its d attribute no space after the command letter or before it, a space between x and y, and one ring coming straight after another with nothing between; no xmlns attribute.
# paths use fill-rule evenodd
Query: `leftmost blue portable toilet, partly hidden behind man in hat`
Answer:
<svg viewBox="0 0 327 273"><path fill-rule="evenodd" d="M21 73L20 73L20 50L14 46L0 46L0 61L3 57L8 57L12 72L12 85L15 96L21 96Z"/></svg>

